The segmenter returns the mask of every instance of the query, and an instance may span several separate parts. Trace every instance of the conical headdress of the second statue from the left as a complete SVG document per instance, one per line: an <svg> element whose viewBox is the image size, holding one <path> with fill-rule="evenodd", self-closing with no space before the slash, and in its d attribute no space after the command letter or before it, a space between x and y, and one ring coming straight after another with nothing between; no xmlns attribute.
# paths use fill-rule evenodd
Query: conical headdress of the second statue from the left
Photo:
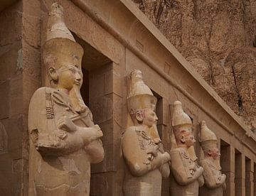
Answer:
<svg viewBox="0 0 256 196"><path fill-rule="evenodd" d="M131 89L127 97L129 112L134 109L156 108L157 99L142 80L142 71L133 70L130 75Z"/></svg>

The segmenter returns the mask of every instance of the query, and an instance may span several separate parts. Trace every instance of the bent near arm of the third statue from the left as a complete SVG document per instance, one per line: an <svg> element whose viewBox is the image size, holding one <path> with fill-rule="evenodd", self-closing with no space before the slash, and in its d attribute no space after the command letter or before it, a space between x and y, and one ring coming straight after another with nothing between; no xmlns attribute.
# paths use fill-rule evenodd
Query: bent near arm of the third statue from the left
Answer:
<svg viewBox="0 0 256 196"><path fill-rule="evenodd" d="M181 159L181 155L179 151L171 151L171 172L174 175L175 180L180 185L188 185L203 174L203 168L196 168L195 173L188 178L188 173L183 165L183 161Z"/></svg>

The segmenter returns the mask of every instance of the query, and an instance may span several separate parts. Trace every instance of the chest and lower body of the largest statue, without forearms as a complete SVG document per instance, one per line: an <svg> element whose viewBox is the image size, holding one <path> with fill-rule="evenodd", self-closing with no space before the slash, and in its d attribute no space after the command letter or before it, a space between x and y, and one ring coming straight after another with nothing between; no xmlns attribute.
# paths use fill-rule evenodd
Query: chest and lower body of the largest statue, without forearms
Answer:
<svg viewBox="0 0 256 196"><path fill-rule="evenodd" d="M43 87L35 93L40 100L33 114L37 113L38 120L28 123L38 134L31 131L30 168L33 171L33 182L38 195L85 195L90 190L90 158L84 148L63 155L42 155L36 148L58 146L65 139L66 131L58 129L58 124L65 116L73 119L78 126L87 126L85 118L75 111L70 99L56 89ZM33 98L31 102L33 102ZM88 111L87 115L91 115ZM90 116L91 118L91 116ZM31 117L33 119L33 117ZM91 118L92 119L92 118ZM93 122L91 121L93 124ZM36 138L36 139L35 139ZM33 142L32 142L33 141ZM35 148L36 146L36 148ZM62 193L62 194L60 194Z"/></svg>

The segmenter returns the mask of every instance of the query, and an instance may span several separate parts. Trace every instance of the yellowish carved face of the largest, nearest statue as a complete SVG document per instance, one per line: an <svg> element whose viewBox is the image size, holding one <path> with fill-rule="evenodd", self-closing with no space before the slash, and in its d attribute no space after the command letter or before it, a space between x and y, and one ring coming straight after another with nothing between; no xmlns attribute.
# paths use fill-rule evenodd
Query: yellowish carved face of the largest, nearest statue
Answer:
<svg viewBox="0 0 256 196"><path fill-rule="evenodd" d="M58 70L58 88L72 89L75 85L82 86L82 71L74 65L60 67Z"/></svg>

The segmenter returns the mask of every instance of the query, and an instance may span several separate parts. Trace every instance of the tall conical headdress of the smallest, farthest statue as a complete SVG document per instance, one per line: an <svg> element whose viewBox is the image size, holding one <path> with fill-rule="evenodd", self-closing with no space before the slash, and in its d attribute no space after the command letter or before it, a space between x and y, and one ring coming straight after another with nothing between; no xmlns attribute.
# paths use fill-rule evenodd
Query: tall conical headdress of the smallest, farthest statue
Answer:
<svg viewBox="0 0 256 196"><path fill-rule="evenodd" d="M206 121L201 121L201 130L199 131L199 142L203 151L207 151L209 148L217 147L217 137L206 126Z"/></svg>

